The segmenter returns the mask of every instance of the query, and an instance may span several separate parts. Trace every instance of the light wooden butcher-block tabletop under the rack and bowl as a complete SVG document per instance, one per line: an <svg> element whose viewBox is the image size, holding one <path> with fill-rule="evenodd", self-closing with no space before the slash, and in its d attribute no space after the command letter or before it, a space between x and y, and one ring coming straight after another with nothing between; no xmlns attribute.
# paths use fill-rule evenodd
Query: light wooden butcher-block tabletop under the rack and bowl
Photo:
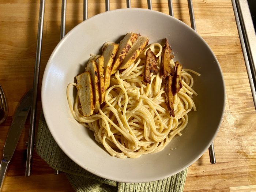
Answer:
<svg viewBox="0 0 256 192"><path fill-rule="evenodd" d="M105 11L105 1L89 1L89 18ZM110 10L126 8L113 1ZM121 3L120 3L121 2ZM153 0L153 10L168 14L167 0ZM132 0L147 8L147 1ZM173 0L174 16L190 25L187 0ZM215 139L217 163L208 151L189 167L184 191L256 191L256 112L230 0L193 0L198 33L218 58L225 79L226 109ZM61 0L46 0L39 90L51 52L60 37ZM33 86L39 0L0 1L0 83L9 114L0 125L3 150L12 116L22 96ZM82 22L83 1L68 1L66 31ZM41 111L40 91L37 114ZM38 117L37 115L37 117ZM38 118L37 118L38 120ZM36 153L32 176L25 176L29 121L26 122L10 163L2 191L73 191L63 173L58 176ZM2 155L0 155L2 158Z"/></svg>

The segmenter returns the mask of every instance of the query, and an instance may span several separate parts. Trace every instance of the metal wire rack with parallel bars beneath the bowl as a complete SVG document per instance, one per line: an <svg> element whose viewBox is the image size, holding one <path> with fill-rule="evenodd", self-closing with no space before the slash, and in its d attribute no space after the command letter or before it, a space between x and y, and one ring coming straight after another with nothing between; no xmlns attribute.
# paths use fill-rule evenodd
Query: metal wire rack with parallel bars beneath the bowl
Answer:
<svg viewBox="0 0 256 192"><path fill-rule="evenodd" d="M173 12L173 3L172 0L168 1L169 15L174 16ZM239 18L237 15L236 1L232 0L236 20L239 23ZM131 0L127 0L127 8L131 8ZM148 9L152 10L152 1L147 0ZM61 6L61 28L60 28L60 39L62 39L65 35L65 18L66 18L66 8L67 8L67 0L62 0ZM191 27L196 31L196 23L195 16L193 12L193 4L192 0L188 0L188 8L189 8L189 16L191 21ZM105 10L110 10L110 0L105 0ZM30 130L29 130L29 142L28 142L28 150L27 150L27 162L26 162L26 176L31 175L31 166L32 166L32 158L33 158L33 148L34 148L34 135L35 135L35 118L36 118L36 108L37 108L37 91L38 91L38 82L39 82L39 69L40 69L40 61L41 61L41 50L42 50L42 38L43 38L43 27L44 27L44 12L45 12L45 0L40 0L40 8L39 8L39 19L38 19L38 34L37 34L37 49L36 49L36 57L35 57L35 68L34 68L34 84L33 84L33 98L32 98L32 106L31 106L31 117L30 117ZM83 0L83 20L88 18L88 0ZM238 32L240 35L241 27L238 26ZM242 32L241 32L242 33ZM241 35L240 35L241 39ZM250 63L248 56L246 57L246 45L245 41L241 40L242 50L245 56L246 67L249 67L248 76L252 77L252 72L250 72ZM253 94L254 102L256 102L255 96L255 87L253 86L253 80L250 80L251 89ZM253 89L254 88L254 89ZM254 92L253 92L254 91ZM208 148L210 162L212 164L216 163L214 145L213 143ZM58 170L54 170L55 174L59 174Z"/></svg>

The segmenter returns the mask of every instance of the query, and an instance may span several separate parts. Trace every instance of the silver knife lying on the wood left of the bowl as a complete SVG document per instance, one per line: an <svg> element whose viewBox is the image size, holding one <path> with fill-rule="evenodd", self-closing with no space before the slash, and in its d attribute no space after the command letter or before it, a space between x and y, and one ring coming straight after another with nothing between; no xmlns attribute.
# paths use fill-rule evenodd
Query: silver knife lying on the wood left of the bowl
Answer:
<svg viewBox="0 0 256 192"><path fill-rule="evenodd" d="M20 101L18 108L14 114L11 127L9 128L6 142L4 144L3 159L0 164L0 190L3 185L4 177L7 171L9 162L14 154L15 148L18 144L20 134L25 125L27 115L31 108L33 89L29 90L27 94Z"/></svg>

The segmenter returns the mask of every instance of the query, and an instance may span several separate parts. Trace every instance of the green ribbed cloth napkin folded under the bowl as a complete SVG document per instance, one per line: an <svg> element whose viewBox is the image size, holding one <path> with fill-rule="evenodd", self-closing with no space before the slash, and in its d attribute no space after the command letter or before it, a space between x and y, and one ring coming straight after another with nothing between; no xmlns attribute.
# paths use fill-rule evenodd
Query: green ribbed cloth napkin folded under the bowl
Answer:
<svg viewBox="0 0 256 192"><path fill-rule="evenodd" d="M107 180L87 172L72 161L53 139L41 114L35 148L38 155L53 169L64 172L76 192L182 192L187 169L159 181L124 183Z"/></svg>

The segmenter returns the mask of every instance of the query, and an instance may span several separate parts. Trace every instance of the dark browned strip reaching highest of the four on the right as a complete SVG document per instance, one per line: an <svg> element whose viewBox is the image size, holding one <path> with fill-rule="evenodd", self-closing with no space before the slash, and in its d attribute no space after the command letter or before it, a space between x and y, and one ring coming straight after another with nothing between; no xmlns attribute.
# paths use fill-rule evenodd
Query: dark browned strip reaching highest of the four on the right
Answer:
<svg viewBox="0 0 256 192"><path fill-rule="evenodd" d="M165 46L163 46L162 58L161 58L161 78L165 79L169 74L171 74L170 60L173 59L171 54L172 49L165 38Z"/></svg>

